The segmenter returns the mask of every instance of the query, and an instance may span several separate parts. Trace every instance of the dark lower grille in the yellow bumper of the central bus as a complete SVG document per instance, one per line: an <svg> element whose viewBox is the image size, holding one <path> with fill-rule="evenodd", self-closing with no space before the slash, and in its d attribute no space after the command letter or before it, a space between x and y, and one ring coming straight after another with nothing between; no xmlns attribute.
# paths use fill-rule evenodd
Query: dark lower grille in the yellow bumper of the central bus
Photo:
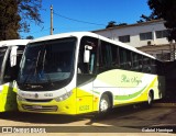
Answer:
<svg viewBox="0 0 176 136"><path fill-rule="evenodd" d="M26 111L36 111L36 112L56 112L56 105L25 105L23 104L22 107Z"/></svg>

